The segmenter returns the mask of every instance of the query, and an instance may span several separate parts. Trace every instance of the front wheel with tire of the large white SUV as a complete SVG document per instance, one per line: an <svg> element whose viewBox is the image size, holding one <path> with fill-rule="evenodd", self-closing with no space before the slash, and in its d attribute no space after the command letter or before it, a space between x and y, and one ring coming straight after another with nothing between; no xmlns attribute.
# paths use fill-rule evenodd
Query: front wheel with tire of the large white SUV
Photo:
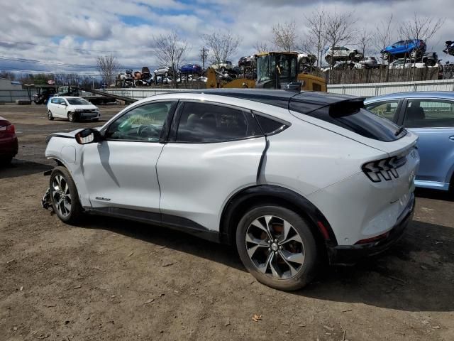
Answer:
<svg viewBox="0 0 454 341"><path fill-rule="evenodd" d="M70 172L62 166L55 167L50 174L50 202L57 216L67 224L75 224L82 217L76 185Z"/></svg>

